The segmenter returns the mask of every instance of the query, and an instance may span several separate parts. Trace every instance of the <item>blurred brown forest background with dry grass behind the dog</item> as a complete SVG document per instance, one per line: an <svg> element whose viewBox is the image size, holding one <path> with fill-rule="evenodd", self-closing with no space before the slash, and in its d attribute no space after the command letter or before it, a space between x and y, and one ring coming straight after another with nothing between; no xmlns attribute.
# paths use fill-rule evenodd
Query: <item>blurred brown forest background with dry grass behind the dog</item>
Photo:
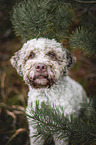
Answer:
<svg viewBox="0 0 96 145"><path fill-rule="evenodd" d="M16 37L10 21L15 2L0 0L0 145L28 145L28 125L24 111L27 105L28 88L10 64L10 58L22 46ZM83 9L84 12L85 9ZM93 15L96 9L92 9ZM78 9L78 25L82 10ZM67 47L67 44L64 43ZM78 81L90 97L96 98L96 55L84 56L79 50L72 50L77 58L69 75Z"/></svg>

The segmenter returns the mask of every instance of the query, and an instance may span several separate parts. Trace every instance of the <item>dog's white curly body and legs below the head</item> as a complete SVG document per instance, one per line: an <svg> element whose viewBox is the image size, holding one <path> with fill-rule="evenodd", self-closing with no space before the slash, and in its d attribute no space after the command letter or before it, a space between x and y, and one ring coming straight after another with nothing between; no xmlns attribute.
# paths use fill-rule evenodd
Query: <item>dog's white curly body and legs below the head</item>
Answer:
<svg viewBox="0 0 96 145"><path fill-rule="evenodd" d="M85 98L86 94L83 90L83 88L74 80L72 80L70 77L62 77L61 80L51 88L47 89L33 89L29 88L28 93L28 106L27 106L27 113L29 114L30 110L30 102L33 102L33 107L35 107L35 102L39 100L39 103L44 101L51 104L55 104L56 106L63 106L64 113L71 114L72 112L76 112L80 109L80 103L84 102L86 100ZM74 98L74 99L73 99ZM29 114L30 115L30 114ZM36 132L34 132L32 128L32 119L29 121L29 128L30 128L30 136L33 136ZM53 136L55 145L67 145L64 140L57 140L55 135ZM31 138L31 143L33 143L35 138ZM44 140L37 140L32 145L43 145Z"/></svg>

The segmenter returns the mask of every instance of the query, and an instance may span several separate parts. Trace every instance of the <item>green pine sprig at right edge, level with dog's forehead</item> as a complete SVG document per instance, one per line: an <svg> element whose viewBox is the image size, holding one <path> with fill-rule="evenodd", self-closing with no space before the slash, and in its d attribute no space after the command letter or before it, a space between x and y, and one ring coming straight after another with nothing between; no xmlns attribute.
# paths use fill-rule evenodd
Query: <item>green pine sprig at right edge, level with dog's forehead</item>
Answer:
<svg viewBox="0 0 96 145"><path fill-rule="evenodd" d="M85 55L93 56L96 53L96 32L88 29L77 28L70 37L70 45L73 49L79 48Z"/></svg>

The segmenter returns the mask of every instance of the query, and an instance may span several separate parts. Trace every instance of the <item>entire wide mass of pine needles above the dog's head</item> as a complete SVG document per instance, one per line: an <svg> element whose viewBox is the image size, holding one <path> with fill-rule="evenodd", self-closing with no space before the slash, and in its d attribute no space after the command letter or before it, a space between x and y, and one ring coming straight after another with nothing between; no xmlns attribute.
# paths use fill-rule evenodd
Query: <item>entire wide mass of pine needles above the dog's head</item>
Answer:
<svg viewBox="0 0 96 145"><path fill-rule="evenodd" d="M14 7L12 15L16 34L24 40L34 37L60 40L67 35L73 20L70 5L58 0L26 0Z"/></svg>

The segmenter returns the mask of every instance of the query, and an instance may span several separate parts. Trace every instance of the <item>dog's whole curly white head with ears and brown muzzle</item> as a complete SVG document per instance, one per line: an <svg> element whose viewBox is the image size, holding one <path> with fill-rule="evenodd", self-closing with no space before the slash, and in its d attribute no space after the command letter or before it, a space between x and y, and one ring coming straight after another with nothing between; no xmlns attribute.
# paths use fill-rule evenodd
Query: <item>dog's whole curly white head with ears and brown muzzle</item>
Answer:
<svg viewBox="0 0 96 145"><path fill-rule="evenodd" d="M27 41L11 58L25 82L34 88L51 87L73 64L71 54L54 39Z"/></svg>

